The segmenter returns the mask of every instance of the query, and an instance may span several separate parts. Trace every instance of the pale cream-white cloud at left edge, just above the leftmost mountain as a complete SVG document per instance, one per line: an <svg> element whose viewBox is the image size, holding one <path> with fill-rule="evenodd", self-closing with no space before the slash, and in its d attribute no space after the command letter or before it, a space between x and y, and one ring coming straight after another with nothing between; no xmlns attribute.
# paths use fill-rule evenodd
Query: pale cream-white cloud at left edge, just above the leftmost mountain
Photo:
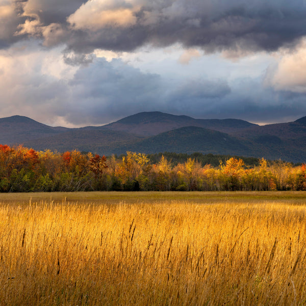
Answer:
<svg viewBox="0 0 306 306"><path fill-rule="evenodd" d="M0 52L2 117L18 114L53 123L55 114L66 112L66 84L77 68L60 58L60 49L43 51L22 43Z"/></svg>

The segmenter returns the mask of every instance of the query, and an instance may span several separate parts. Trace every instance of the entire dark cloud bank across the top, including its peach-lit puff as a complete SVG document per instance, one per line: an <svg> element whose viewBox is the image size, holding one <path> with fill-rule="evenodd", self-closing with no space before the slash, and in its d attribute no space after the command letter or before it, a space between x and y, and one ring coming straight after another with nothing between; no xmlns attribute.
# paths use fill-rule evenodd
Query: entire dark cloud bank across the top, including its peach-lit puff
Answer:
<svg viewBox="0 0 306 306"><path fill-rule="evenodd" d="M36 18L39 22L35 35L51 40L50 45L66 43L70 50L79 53L90 53L95 48L130 51L144 44L173 43L200 46L207 52L271 51L295 44L306 35L303 0L28 0L14 3L16 14L6 22L9 30L0 46L17 39L14 33L18 24L20 30L27 18L30 21ZM57 24L62 29L61 35L57 31L50 38L53 34L47 31L45 37L44 27L50 24ZM33 33L30 31L28 35Z"/></svg>

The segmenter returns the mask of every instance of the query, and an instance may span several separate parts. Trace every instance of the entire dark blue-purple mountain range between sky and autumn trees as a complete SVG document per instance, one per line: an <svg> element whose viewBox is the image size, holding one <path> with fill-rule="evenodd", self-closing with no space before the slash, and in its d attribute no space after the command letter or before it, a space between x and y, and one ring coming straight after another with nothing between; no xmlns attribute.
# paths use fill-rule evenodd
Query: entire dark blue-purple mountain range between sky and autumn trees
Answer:
<svg viewBox="0 0 306 306"><path fill-rule="evenodd" d="M104 126L52 127L24 116L0 119L0 143L36 150L79 149L101 155L202 152L306 161L306 117L267 125L237 119L194 119L161 112L135 114Z"/></svg>

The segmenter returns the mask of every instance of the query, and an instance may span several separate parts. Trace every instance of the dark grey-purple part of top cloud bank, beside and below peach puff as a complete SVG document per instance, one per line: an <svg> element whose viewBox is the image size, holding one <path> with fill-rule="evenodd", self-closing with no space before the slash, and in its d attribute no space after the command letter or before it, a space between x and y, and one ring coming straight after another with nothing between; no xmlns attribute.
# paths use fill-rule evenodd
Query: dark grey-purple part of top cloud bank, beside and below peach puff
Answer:
<svg viewBox="0 0 306 306"><path fill-rule="evenodd" d="M132 50L145 43L166 46L180 42L207 52L271 51L306 34L306 9L301 1L254 1L252 5L247 1L165 1L157 8L144 5L135 15L135 24L124 28L109 26L74 33L69 48L79 52L89 48Z"/></svg>

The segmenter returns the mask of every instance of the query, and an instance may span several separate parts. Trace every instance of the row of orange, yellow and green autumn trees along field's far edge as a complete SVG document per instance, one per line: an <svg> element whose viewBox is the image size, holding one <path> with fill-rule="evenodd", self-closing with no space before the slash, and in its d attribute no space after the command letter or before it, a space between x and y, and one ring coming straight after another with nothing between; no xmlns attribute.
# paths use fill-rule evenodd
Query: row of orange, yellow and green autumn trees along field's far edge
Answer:
<svg viewBox="0 0 306 306"><path fill-rule="evenodd" d="M0 192L29 191L306 190L306 165L231 157L218 166L195 158L172 163L164 155L126 152L117 157L78 150L36 151L0 145Z"/></svg>

